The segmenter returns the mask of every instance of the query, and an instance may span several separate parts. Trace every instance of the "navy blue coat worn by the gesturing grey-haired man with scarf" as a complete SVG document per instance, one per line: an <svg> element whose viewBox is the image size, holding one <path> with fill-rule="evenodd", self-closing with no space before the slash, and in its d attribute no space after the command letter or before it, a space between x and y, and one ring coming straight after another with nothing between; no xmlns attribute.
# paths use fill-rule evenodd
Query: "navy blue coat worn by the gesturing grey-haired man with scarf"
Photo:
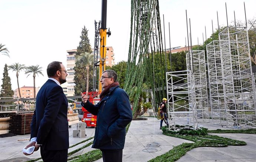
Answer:
<svg viewBox="0 0 256 162"><path fill-rule="evenodd" d="M132 120L132 110L127 93L119 86L109 89L109 93L96 105L89 100L82 106L97 115L92 148L124 149L125 128Z"/></svg>

